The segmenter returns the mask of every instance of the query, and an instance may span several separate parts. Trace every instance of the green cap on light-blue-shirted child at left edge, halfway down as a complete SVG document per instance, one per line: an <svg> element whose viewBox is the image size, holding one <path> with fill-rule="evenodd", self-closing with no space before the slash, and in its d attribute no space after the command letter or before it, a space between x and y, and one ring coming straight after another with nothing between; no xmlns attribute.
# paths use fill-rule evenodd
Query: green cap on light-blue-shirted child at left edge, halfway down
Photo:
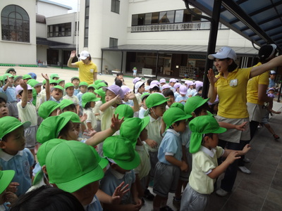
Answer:
<svg viewBox="0 0 282 211"><path fill-rule="evenodd" d="M1 117L0 118L0 139L2 139L6 134L13 132L15 129L17 129L20 126L23 126L23 128L30 127L30 122L20 122L15 117Z"/></svg>

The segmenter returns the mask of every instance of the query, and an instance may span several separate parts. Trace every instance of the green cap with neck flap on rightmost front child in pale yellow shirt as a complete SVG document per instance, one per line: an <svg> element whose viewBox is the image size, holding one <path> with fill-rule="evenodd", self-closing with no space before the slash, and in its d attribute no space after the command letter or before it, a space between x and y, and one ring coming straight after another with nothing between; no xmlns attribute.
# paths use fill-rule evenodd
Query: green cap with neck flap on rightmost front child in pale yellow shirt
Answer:
<svg viewBox="0 0 282 211"><path fill-rule="evenodd" d="M190 153L197 153L200 150L203 134L221 134L226 132L226 128L219 127L216 119L209 115L195 117L189 123L192 131L190 137Z"/></svg>

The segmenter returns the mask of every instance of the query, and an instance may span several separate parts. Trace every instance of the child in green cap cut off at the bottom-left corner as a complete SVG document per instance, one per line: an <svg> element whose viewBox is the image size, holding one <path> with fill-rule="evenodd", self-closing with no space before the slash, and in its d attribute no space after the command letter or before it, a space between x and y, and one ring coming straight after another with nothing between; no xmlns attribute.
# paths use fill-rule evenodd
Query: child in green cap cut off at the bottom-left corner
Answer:
<svg viewBox="0 0 282 211"><path fill-rule="evenodd" d="M8 207L4 203L14 203L18 199L15 193L8 191L8 186L14 175L14 170L0 170L0 210L8 210Z"/></svg>

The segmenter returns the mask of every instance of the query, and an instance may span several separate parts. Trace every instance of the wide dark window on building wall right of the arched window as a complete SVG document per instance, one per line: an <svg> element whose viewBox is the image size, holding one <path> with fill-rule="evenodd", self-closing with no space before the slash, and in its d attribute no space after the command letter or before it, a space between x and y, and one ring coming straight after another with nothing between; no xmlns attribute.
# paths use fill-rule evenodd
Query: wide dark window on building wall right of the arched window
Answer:
<svg viewBox="0 0 282 211"><path fill-rule="evenodd" d="M47 30L48 37L70 37L71 22L56 25L48 25Z"/></svg>

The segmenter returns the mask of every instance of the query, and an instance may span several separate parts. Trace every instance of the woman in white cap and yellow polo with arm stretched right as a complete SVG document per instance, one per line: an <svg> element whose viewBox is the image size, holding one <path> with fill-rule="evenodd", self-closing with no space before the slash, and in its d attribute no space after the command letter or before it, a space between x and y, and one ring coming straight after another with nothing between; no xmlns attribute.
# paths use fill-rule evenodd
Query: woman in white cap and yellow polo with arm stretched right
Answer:
<svg viewBox="0 0 282 211"><path fill-rule="evenodd" d="M261 75L263 72L282 65L282 56L278 56L268 63L252 68L238 68L235 63L237 59L235 51L229 47L223 47L219 52L210 54L209 59L214 60L214 65L219 75L214 76L212 69L209 69L209 98L213 103L216 95L219 96L219 112L216 119L219 122L231 124L242 124L249 122L247 112L247 82L250 78ZM250 141L250 126L247 123L245 131L227 129L219 134L219 146L232 150L242 150L245 143ZM238 171L238 160L229 165L224 178L221 181L221 188L216 191L219 196L226 196L231 192Z"/></svg>

